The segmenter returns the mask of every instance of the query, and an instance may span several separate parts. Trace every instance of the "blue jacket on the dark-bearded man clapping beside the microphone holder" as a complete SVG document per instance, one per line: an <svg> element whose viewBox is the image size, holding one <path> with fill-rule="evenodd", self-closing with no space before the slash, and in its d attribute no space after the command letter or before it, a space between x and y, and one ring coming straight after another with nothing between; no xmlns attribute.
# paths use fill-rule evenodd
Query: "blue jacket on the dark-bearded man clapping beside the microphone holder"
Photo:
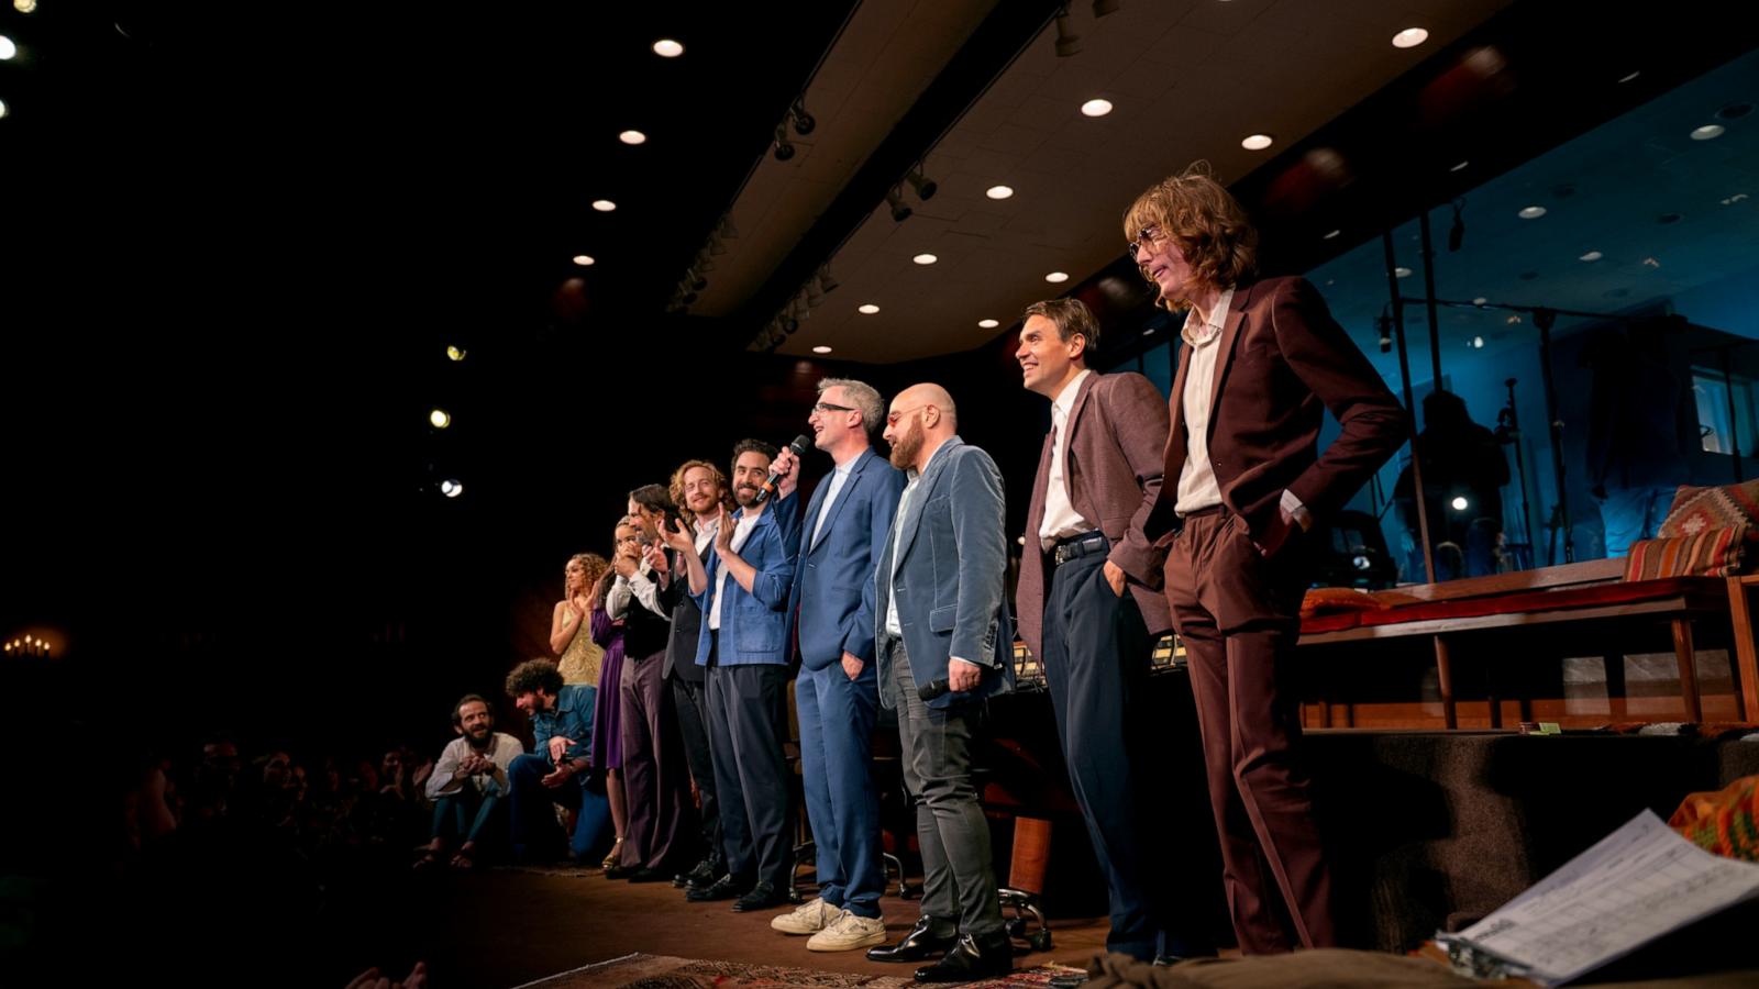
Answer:
<svg viewBox="0 0 1759 989"><path fill-rule="evenodd" d="M739 581L728 577L721 593L721 653L716 662L723 667L737 665L786 665L788 663L788 590L793 586L793 554L800 538L799 523L781 524L777 512L799 507L793 503L774 503L751 530L751 537L739 549L739 558L756 568L751 590L746 591ZM735 524L737 517L726 516L725 524ZM714 607L714 586L719 582L725 567L721 554L711 546L709 590L695 595L697 607L702 609L702 632L697 635L697 665L709 663L709 611Z"/></svg>

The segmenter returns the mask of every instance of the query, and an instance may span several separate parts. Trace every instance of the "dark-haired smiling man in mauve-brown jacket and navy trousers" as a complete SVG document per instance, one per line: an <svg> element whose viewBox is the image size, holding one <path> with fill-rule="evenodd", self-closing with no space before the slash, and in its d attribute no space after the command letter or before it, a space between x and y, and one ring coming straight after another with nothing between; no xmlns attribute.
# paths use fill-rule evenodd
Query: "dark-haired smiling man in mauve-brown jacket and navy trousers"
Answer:
<svg viewBox="0 0 1759 989"><path fill-rule="evenodd" d="M1171 626L1164 551L1142 533L1161 493L1166 403L1142 375L1089 371L1098 343L1078 299L1025 308L1015 359L1027 391L1050 399L1050 431L1025 512L1020 635L1045 667L1069 783L1106 873L1106 949L1142 961L1208 956L1215 947L1189 917L1201 897L1171 896L1177 843L1164 820L1149 820L1150 774L1138 766L1168 744L1142 730L1136 709L1154 642Z"/></svg>

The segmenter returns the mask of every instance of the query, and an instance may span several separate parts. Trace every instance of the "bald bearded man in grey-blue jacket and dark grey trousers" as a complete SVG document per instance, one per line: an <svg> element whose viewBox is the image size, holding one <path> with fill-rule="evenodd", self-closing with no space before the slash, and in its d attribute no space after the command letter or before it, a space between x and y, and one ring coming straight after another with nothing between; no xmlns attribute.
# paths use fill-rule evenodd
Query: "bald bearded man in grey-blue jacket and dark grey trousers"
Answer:
<svg viewBox="0 0 1759 989"><path fill-rule="evenodd" d="M1006 977L1013 945L996 894L989 820L971 781L983 702L1013 688L1013 621L1003 597L1006 510L996 461L957 435L946 389L892 399L885 438L909 482L874 568L880 702L897 709L904 787L916 801L922 917L872 961L925 961L916 982Z"/></svg>

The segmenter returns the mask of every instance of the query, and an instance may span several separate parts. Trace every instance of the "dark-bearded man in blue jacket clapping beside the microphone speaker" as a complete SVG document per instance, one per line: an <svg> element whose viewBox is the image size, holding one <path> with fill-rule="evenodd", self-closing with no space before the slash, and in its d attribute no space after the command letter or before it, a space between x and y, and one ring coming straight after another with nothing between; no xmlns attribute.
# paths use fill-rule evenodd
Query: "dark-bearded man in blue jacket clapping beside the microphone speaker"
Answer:
<svg viewBox="0 0 1759 989"><path fill-rule="evenodd" d="M709 679L709 743L721 810L726 873L686 899L734 899L735 912L786 901L793 873L788 841L788 588L799 526L781 524L758 500L776 447L734 447L734 500L704 561L682 524L667 526L667 546L690 572L690 593L707 621L697 663ZM737 897L737 899L735 899Z"/></svg>

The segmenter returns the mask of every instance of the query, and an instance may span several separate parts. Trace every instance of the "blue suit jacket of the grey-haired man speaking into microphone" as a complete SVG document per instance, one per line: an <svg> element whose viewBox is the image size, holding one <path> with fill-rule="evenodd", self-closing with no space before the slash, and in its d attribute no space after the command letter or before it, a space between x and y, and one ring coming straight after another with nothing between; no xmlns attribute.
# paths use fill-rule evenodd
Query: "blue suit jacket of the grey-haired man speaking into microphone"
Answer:
<svg viewBox="0 0 1759 989"><path fill-rule="evenodd" d="M874 563L892 537L897 494L904 489L904 472L869 451L855 458L850 479L830 505L825 531L813 544L818 510L830 493L827 473L806 505L806 516L785 510L781 519L797 519L800 560L793 568L788 614L800 623L800 665L820 670L843 660L848 651L862 662L874 658ZM788 494L777 509L788 509L797 494ZM799 609L799 611L795 611Z"/></svg>

